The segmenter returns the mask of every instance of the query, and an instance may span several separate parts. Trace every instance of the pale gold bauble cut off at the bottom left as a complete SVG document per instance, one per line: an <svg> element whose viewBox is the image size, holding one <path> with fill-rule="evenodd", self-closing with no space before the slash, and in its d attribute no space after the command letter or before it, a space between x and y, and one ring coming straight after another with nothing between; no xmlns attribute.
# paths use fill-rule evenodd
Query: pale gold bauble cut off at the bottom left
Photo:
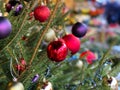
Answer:
<svg viewBox="0 0 120 90"><path fill-rule="evenodd" d="M7 90L24 90L24 86L21 82L8 83Z"/></svg>

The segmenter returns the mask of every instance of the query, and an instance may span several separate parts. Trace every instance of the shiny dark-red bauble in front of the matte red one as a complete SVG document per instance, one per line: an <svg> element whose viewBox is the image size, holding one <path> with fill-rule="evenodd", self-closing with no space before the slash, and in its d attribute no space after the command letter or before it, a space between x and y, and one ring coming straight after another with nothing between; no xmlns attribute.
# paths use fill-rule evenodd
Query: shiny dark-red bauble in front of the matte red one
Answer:
<svg viewBox="0 0 120 90"><path fill-rule="evenodd" d="M51 42L47 47L48 58L55 62L63 61L67 53L68 48L62 39Z"/></svg>

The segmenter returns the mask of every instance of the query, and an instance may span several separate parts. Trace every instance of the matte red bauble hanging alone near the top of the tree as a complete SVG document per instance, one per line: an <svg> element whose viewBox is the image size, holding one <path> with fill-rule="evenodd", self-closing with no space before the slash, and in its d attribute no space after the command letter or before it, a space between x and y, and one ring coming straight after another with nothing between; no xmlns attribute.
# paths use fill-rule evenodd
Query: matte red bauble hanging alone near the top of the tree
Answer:
<svg viewBox="0 0 120 90"><path fill-rule="evenodd" d="M34 17L40 22L45 22L50 16L50 9L47 6L38 6L34 9Z"/></svg>

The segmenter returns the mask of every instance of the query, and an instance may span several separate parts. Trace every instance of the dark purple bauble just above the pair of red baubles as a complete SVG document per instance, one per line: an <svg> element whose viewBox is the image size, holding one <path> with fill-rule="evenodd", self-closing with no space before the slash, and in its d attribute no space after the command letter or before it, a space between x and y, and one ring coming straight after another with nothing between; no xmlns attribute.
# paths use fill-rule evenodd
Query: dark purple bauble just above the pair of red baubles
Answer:
<svg viewBox="0 0 120 90"><path fill-rule="evenodd" d="M75 35L76 37L83 37L87 33L87 26L83 23L77 22L73 25L72 27L72 34Z"/></svg>

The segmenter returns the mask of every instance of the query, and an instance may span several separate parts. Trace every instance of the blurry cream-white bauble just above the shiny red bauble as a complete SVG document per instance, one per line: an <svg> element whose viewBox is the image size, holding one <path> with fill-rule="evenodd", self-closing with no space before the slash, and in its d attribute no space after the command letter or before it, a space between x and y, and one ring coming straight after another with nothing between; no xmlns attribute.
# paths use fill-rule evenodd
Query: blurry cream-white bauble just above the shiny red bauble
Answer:
<svg viewBox="0 0 120 90"><path fill-rule="evenodd" d="M52 42L56 39L55 31L52 29L49 29L48 32L44 36L44 40L46 42Z"/></svg>

